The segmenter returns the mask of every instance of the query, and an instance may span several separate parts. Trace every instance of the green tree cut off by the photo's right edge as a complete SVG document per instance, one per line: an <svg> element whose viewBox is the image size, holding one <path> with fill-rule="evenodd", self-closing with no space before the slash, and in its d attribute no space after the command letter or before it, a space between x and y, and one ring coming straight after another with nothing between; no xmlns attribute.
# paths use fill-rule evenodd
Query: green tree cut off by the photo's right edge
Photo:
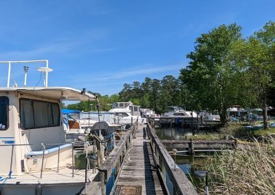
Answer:
<svg viewBox="0 0 275 195"><path fill-rule="evenodd" d="M247 42L248 72L256 99L263 108L264 129L268 129L267 104L270 89L274 87L272 73L275 66L275 23L266 23L263 30L255 32Z"/></svg>

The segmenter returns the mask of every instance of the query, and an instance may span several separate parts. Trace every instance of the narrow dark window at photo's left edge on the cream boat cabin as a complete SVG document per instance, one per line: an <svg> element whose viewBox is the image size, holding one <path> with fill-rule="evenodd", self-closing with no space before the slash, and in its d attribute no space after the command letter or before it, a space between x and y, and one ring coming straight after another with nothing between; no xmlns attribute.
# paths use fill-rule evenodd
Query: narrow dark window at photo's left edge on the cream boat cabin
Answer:
<svg viewBox="0 0 275 195"><path fill-rule="evenodd" d="M8 129L8 97L0 96L0 130Z"/></svg>

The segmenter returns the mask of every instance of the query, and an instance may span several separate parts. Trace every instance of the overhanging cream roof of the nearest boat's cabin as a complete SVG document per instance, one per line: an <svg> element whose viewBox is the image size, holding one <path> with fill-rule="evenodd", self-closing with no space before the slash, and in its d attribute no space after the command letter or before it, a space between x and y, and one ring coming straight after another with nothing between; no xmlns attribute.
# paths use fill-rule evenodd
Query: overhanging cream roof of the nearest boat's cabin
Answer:
<svg viewBox="0 0 275 195"><path fill-rule="evenodd" d="M71 87L0 87L1 91L22 92L56 100L61 100L61 94L63 93L63 100L96 100L96 96L93 94L87 92L81 94L80 90Z"/></svg>

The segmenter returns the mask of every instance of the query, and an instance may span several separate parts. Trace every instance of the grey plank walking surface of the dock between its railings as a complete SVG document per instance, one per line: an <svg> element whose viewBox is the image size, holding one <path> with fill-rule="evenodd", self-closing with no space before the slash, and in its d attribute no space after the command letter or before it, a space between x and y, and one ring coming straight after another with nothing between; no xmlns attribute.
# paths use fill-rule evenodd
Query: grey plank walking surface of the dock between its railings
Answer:
<svg viewBox="0 0 275 195"><path fill-rule="evenodd" d="M133 148L129 151L117 183L118 194L167 194L153 161L146 130L137 128Z"/></svg>

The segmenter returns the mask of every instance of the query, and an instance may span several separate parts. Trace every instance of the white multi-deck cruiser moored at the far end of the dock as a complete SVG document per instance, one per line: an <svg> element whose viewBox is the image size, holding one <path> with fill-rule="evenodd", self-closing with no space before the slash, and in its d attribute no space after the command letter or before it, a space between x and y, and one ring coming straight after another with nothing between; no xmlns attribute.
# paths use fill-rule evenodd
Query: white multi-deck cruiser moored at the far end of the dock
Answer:
<svg viewBox="0 0 275 195"><path fill-rule="evenodd" d="M116 124L146 123L146 118L140 115L140 106L132 102L114 102L109 113L115 113Z"/></svg>

